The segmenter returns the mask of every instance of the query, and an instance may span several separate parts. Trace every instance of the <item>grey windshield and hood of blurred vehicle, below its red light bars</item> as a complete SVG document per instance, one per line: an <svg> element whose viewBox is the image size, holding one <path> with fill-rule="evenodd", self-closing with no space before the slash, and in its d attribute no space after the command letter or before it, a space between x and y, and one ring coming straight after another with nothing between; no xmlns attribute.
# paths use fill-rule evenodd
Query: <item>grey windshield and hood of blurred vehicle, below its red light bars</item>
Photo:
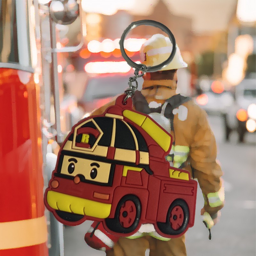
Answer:
<svg viewBox="0 0 256 256"><path fill-rule="evenodd" d="M124 93L129 87L130 76L115 74L88 78L84 94L79 100L79 105L84 109L85 115L89 116L94 109L107 104L116 95ZM141 84L141 79L137 79L139 84Z"/></svg>

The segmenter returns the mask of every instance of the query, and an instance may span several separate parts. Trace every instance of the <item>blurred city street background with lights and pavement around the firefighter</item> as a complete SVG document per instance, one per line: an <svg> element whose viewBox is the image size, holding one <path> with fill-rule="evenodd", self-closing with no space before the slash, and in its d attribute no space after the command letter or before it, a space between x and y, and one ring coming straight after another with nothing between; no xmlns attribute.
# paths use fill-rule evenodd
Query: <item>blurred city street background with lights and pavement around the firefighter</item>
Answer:
<svg viewBox="0 0 256 256"><path fill-rule="evenodd" d="M42 6L47 0L39 0ZM188 68L178 70L178 91L190 96L209 115L224 172L226 204L212 240L202 223L203 197L198 189L195 226L187 232L188 256L255 255L256 2L253 0L82 0L80 17L57 24L61 130L124 92L133 69L119 46L124 29L137 20L156 20L175 36ZM82 18L81 18L82 17ZM82 20L80 20L82 19ZM80 27L82 21L82 29ZM42 22L48 27L47 20ZM45 29L46 31L46 29ZM139 61L143 42L160 29L140 26L124 47ZM47 37L47 33L44 34ZM47 56L44 56L45 58ZM139 86L142 84L140 78ZM54 108L51 107L54 123ZM84 243L91 225L64 227L65 256L100 256ZM146 253L148 255L148 252Z"/></svg>

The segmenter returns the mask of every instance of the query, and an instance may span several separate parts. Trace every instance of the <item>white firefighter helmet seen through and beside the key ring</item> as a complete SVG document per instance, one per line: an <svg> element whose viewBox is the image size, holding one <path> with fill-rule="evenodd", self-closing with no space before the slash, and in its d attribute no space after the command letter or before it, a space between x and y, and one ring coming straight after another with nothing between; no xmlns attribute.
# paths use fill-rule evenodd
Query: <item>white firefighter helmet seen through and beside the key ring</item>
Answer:
<svg viewBox="0 0 256 256"><path fill-rule="evenodd" d="M147 67L153 67L161 64L170 56L172 52L172 43L169 37L162 34L151 36L140 49L140 61ZM172 61L161 70L171 70L178 68L186 68L188 64L183 61L180 49L176 44L176 53Z"/></svg>

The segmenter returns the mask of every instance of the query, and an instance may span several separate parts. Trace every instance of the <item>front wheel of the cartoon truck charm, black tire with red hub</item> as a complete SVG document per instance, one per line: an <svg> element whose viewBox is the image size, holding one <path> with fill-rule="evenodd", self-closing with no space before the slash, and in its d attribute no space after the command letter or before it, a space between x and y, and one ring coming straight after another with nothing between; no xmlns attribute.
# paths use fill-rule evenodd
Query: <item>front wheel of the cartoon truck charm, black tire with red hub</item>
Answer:
<svg viewBox="0 0 256 256"><path fill-rule="evenodd" d="M116 233L131 233L140 223L141 204L134 195L124 196L116 207L115 218L105 220L106 226Z"/></svg>

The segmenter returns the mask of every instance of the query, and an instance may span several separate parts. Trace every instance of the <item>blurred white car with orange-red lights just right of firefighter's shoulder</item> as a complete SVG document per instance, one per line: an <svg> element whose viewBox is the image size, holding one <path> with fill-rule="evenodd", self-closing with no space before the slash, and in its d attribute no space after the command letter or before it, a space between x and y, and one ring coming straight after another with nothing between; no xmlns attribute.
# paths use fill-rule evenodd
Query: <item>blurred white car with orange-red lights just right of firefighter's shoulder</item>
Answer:
<svg viewBox="0 0 256 256"><path fill-rule="evenodd" d="M204 81L195 102L209 114L222 114L234 102L231 92L224 89L221 81Z"/></svg>

